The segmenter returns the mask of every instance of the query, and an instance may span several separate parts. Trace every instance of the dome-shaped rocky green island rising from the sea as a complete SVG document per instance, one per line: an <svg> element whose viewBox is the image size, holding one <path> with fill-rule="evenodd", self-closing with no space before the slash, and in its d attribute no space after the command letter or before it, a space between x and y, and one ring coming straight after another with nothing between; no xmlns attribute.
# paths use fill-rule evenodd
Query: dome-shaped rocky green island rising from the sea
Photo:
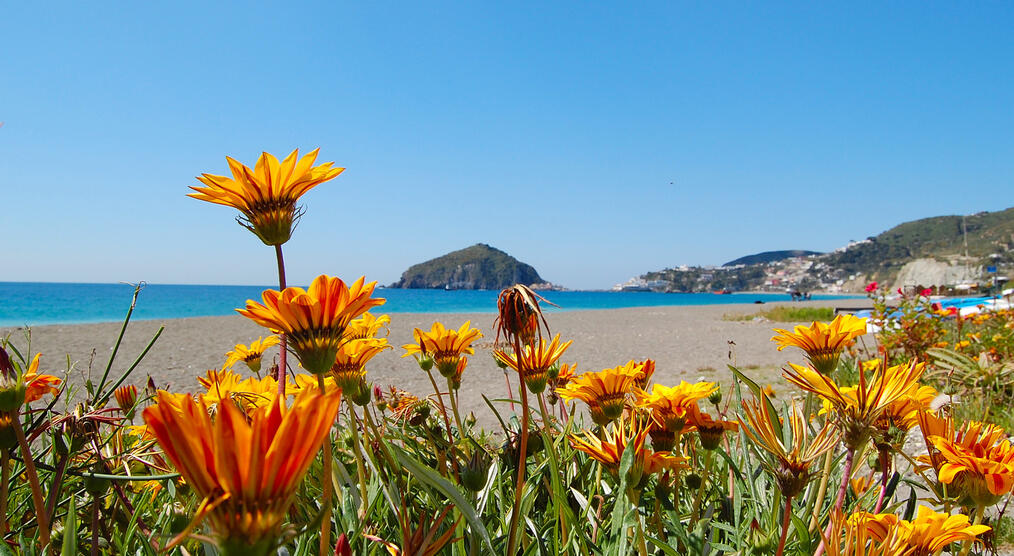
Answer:
<svg viewBox="0 0 1014 556"><path fill-rule="evenodd" d="M413 265L393 288L503 289L545 280L535 269L485 244Z"/></svg>

